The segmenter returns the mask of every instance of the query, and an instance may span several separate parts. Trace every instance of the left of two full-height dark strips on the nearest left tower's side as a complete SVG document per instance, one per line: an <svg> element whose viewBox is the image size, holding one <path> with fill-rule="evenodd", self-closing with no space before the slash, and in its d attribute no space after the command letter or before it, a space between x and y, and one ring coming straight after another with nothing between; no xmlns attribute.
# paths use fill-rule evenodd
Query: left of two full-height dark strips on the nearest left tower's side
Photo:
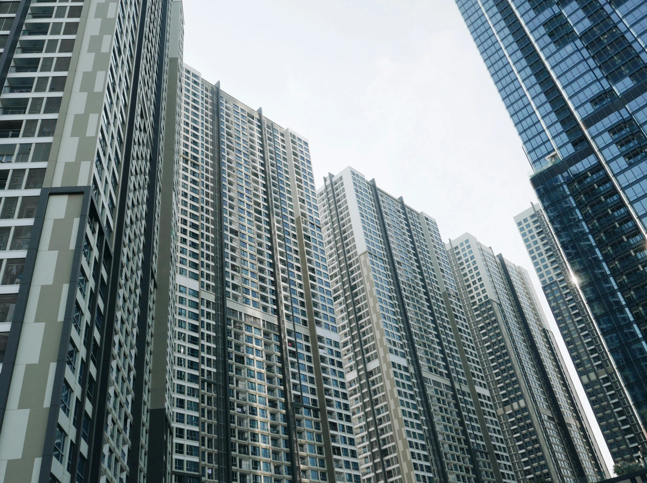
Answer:
<svg viewBox="0 0 647 483"><path fill-rule="evenodd" d="M115 233L113 234L115 245L113 248L113 267L111 268L111 277L108 287L107 297L107 310L105 314L105 334L112 334L115 330L115 314L116 314L116 297L119 291L119 275L122 261L122 244L124 241L124 223L126 218L126 207L128 203L128 182L127 178L130 175L130 166L132 161L133 150L133 136L135 131L135 122L137 119L137 96L139 94L140 78L135 78L136 73L140 73L142 63L142 45L144 43L144 27L146 26L146 14L148 12L148 0L142 0L140 6L139 27L137 32L137 48L135 50L135 62L133 65L133 78L131 79L131 95L128 109L128 124L126 128L126 142L124 143L124 160L122 166L122 180L119 189L119 201L117 207L117 216L115 223ZM142 108L143 109L143 108ZM146 336L139 334L139 336ZM110 358L112 353L111 344L102 344L101 347L101 362L100 367L97 368L97 383L99 387L99 394L96 403L95 414L101 414L101 420L94 418L94 438L93 444L89 445L88 461L90 464L90 481L99 481L101 475L101 460L102 460L102 444L104 439L103 420L105 416L107 392L108 392L108 379L110 377ZM141 354L138 354L141 358ZM134 416L134 415L133 415ZM96 426L99 426L97 429ZM132 450L132 447L131 447ZM137 452L139 450L137 449ZM131 456L132 458L132 456ZM137 454L137 460L139 455Z"/></svg>

